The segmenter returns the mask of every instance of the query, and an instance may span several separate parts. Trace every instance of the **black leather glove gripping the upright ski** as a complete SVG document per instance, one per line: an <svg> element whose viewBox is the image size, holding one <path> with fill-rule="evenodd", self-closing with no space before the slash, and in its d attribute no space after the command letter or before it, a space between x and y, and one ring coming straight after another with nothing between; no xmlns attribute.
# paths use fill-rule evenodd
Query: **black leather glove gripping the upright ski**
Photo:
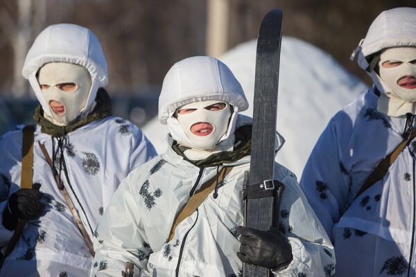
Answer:
<svg viewBox="0 0 416 277"><path fill-rule="evenodd" d="M272 270L286 268L293 260L291 244L277 228L269 231L239 226L240 260Z"/></svg>

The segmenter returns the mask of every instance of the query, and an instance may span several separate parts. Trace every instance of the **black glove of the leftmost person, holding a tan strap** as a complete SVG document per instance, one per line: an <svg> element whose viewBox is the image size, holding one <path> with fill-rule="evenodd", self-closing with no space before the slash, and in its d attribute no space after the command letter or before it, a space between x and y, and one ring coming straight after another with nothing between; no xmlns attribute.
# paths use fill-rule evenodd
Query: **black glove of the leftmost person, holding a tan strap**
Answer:
<svg viewBox="0 0 416 277"><path fill-rule="evenodd" d="M10 195L8 204L3 211L3 226L12 231L16 229L18 220L35 220L40 217L45 204L39 202L42 193L40 184L33 184L33 188L21 188Z"/></svg>

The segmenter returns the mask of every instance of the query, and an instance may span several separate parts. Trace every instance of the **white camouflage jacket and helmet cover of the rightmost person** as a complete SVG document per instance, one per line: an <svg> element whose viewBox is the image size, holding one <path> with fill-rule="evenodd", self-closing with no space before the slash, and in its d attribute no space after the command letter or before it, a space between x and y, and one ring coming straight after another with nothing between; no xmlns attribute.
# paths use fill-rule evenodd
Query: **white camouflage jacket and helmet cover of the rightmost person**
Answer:
<svg viewBox="0 0 416 277"><path fill-rule="evenodd" d="M416 46L416 9L388 10L370 27L358 48L358 62L366 69L365 56L384 47L412 45ZM380 95L373 86L331 118L300 181L331 235L336 276L416 276L416 141L381 180L356 198L379 161L416 126L414 114L380 112Z"/></svg>

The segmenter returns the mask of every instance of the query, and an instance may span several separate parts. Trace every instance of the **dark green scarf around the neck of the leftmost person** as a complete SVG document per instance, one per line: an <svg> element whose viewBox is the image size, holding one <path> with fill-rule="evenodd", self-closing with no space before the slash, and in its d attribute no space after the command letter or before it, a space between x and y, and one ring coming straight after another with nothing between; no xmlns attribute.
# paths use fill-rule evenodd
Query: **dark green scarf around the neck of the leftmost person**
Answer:
<svg viewBox="0 0 416 277"><path fill-rule="evenodd" d="M51 123L51 121L44 118L44 112L41 105L36 107L33 119L40 125L42 133L49 134L51 136L64 136L79 127L83 127L87 123L112 115L111 98L105 89L98 89L96 103L97 104L94 110L85 118L80 120L75 119L66 126L55 125Z"/></svg>

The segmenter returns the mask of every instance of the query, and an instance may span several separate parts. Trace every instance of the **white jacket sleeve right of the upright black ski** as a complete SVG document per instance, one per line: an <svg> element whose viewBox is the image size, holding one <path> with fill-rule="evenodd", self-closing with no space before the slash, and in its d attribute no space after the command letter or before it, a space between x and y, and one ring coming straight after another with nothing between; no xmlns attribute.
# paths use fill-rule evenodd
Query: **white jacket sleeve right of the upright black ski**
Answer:
<svg viewBox="0 0 416 277"><path fill-rule="evenodd" d="M281 197L279 230L291 244L293 260L275 276L331 276L335 271L335 254L327 233L309 206L293 173L281 167L275 173L284 184Z"/></svg>

